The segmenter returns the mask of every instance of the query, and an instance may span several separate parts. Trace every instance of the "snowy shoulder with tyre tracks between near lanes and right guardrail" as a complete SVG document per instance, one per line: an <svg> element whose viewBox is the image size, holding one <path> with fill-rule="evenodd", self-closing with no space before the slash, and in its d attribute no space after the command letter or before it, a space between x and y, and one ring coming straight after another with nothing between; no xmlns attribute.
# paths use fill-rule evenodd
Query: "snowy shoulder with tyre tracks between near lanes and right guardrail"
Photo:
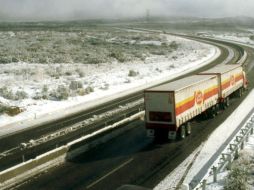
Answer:
<svg viewBox="0 0 254 190"><path fill-rule="evenodd" d="M182 180L183 184L189 184L195 177L200 177L200 171L206 174L206 171L212 165L216 158L214 154L226 146L224 142L235 132L239 124L254 108L254 91L252 91L244 102L223 122L204 142L200 145L182 164L180 164L172 173L170 173L163 181L161 181L154 189L169 190L175 189L175 186ZM223 134L223 135L222 135ZM250 138L248 145L245 147L249 152L254 154L254 135ZM189 167L189 168L188 168ZM201 172L202 173L202 172ZM222 177L226 176L226 173ZM218 188L222 187L217 184ZM216 186L217 187L217 186Z"/></svg>

